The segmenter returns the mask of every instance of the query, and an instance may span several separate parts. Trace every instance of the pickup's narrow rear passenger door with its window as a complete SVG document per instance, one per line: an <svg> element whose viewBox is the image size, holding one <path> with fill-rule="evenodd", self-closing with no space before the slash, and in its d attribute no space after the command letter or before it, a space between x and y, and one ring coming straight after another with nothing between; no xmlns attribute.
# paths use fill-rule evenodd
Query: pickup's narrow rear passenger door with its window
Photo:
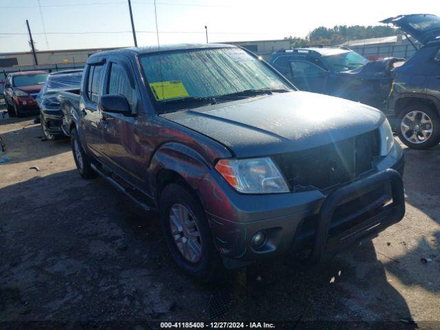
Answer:
<svg viewBox="0 0 440 330"><path fill-rule="evenodd" d="M80 125L85 136L89 151L100 158L101 137L101 111L98 107L102 93L102 78L104 76L104 63L87 65L80 102Z"/></svg>

